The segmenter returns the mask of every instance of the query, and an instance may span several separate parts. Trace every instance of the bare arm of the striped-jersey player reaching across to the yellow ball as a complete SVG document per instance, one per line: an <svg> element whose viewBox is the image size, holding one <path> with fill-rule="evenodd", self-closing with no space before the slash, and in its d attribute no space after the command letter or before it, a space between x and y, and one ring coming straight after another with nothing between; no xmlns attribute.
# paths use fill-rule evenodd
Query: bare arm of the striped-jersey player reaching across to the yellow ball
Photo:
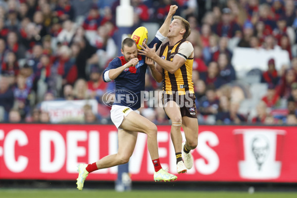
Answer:
<svg viewBox="0 0 297 198"><path fill-rule="evenodd" d="M145 44L141 46L143 50L140 50L139 54L148 56L149 58L153 59L160 67L167 70L169 73L174 74L176 70L178 70L183 64L186 62L186 59L181 56L174 56L172 61L162 59L157 53L155 53L156 45L153 48L148 48Z"/></svg>

